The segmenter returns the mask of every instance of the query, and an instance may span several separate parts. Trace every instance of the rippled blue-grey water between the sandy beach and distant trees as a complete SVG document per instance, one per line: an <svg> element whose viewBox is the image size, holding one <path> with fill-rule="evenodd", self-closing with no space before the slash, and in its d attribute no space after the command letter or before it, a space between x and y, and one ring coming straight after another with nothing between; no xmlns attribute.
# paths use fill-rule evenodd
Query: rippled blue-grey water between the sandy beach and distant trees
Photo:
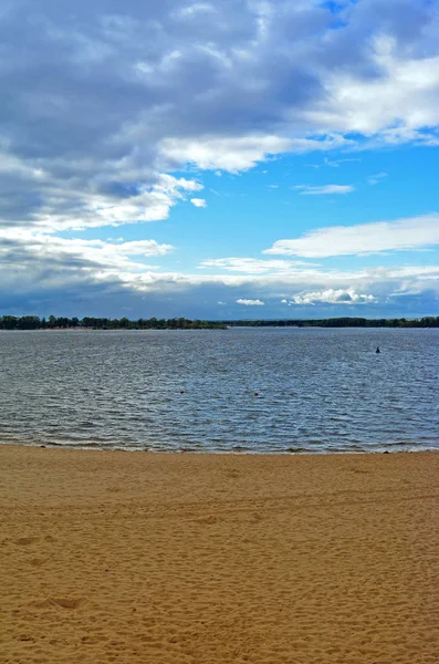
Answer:
<svg viewBox="0 0 439 664"><path fill-rule="evenodd" d="M435 329L2 332L0 442L439 448L438 342Z"/></svg>

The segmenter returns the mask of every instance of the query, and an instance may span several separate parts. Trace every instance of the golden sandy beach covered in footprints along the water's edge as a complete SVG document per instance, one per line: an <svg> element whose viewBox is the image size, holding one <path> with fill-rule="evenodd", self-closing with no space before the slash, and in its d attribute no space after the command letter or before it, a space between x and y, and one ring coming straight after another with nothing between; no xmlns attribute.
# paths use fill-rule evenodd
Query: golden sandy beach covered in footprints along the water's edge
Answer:
<svg viewBox="0 0 439 664"><path fill-rule="evenodd" d="M0 446L0 662L439 661L439 454Z"/></svg>

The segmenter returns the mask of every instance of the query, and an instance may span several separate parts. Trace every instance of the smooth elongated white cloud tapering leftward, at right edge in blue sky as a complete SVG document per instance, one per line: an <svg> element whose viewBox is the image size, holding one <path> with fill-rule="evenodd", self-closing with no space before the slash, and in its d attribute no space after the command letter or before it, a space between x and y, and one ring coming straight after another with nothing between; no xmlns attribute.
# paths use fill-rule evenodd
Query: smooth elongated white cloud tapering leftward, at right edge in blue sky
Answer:
<svg viewBox="0 0 439 664"><path fill-rule="evenodd" d="M398 221L320 228L297 239L278 240L263 253L325 258L379 251L408 251L438 243L439 215L433 214Z"/></svg>

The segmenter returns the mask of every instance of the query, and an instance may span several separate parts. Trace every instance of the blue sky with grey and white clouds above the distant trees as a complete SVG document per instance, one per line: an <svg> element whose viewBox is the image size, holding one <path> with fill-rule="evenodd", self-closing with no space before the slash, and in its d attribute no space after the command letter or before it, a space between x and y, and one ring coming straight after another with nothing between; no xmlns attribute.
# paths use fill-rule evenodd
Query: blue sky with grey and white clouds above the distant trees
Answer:
<svg viewBox="0 0 439 664"><path fill-rule="evenodd" d="M0 314L439 314L439 0L4 0Z"/></svg>

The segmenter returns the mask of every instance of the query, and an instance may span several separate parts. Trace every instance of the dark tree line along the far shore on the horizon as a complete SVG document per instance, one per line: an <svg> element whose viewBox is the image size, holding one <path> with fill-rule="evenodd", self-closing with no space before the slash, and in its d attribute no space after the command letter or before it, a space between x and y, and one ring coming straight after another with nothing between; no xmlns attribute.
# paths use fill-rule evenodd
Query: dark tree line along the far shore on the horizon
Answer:
<svg viewBox="0 0 439 664"><path fill-rule="evenodd" d="M186 318L174 319L108 319L84 317L55 317L48 319L38 315L0 317L0 330L226 330L227 328L439 328L439 317L421 319L280 319L280 320L233 320L200 321Z"/></svg>

